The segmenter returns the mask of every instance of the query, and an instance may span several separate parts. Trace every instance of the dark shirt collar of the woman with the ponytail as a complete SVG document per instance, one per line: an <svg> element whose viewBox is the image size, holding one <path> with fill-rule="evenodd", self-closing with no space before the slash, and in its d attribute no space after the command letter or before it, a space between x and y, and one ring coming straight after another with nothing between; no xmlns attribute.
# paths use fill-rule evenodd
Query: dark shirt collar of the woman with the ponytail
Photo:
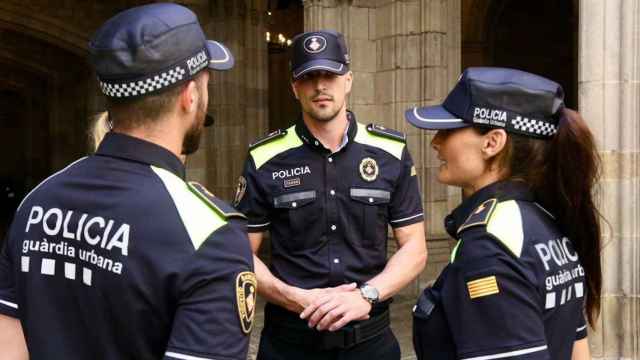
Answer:
<svg viewBox="0 0 640 360"><path fill-rule="evenodd" d="M533 193L524 182L510 180L494 182L464 199L457 208L445 217L444 227L447 233L454 239L457 238L458 228L467 221L471 212L483 202L493 198L500 202L507 200L534 201Z"/></svg>

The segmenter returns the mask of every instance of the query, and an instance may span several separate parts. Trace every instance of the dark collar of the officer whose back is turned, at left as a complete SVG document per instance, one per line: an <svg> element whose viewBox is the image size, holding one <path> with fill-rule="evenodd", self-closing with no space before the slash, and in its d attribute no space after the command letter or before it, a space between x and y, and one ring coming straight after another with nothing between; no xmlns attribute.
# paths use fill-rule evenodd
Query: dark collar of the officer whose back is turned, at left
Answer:
<svg viewBox="0 0 640 360"><path fill-rule="evenodd" d="M157 166L171 171L182 180L186 177L184 164L171 151L160 145L113 131L105 135L96 155Z"/></svg>

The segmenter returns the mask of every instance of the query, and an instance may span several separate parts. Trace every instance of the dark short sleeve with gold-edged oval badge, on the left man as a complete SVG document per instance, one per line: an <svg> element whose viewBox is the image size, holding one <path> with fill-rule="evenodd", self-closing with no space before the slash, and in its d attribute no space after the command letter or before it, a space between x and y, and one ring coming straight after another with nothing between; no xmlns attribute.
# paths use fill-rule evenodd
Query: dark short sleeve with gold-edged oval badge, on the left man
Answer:
<svg viewBox="0 0 640 360"><path fill-rule="evenodd" d="M179 275L165 359L246 359L257 295L252 259L244 222L197 249Z"/></svg>

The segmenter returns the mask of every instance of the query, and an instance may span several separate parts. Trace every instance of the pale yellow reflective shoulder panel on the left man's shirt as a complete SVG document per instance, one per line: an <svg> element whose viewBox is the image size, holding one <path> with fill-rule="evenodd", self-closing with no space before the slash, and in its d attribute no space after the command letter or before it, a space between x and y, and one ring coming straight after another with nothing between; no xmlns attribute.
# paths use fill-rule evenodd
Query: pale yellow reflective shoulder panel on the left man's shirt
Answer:
<svg viewBox="0 0 640 360"><path fill-rule="evenodd" d="M169 192L196 250L211 233L227 223L223 215L214 211L194 194L182 179L159 167L151 166L151 169L162 180L167 192Z"/></svg>

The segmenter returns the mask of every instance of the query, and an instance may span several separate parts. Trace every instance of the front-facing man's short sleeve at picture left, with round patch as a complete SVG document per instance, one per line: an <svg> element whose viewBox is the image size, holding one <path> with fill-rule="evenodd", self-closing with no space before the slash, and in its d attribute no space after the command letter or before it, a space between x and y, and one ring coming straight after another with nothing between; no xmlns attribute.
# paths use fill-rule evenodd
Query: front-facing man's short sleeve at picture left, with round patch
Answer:
<svg viewBox="0 0 640 360"><path fill-rule="evenodd" d="M257 170L251 155L245 161L242 176L238 180L235 207L242 212L249 223L249 232L263 232L271 224L266 194L261 190Z"/></svg>

